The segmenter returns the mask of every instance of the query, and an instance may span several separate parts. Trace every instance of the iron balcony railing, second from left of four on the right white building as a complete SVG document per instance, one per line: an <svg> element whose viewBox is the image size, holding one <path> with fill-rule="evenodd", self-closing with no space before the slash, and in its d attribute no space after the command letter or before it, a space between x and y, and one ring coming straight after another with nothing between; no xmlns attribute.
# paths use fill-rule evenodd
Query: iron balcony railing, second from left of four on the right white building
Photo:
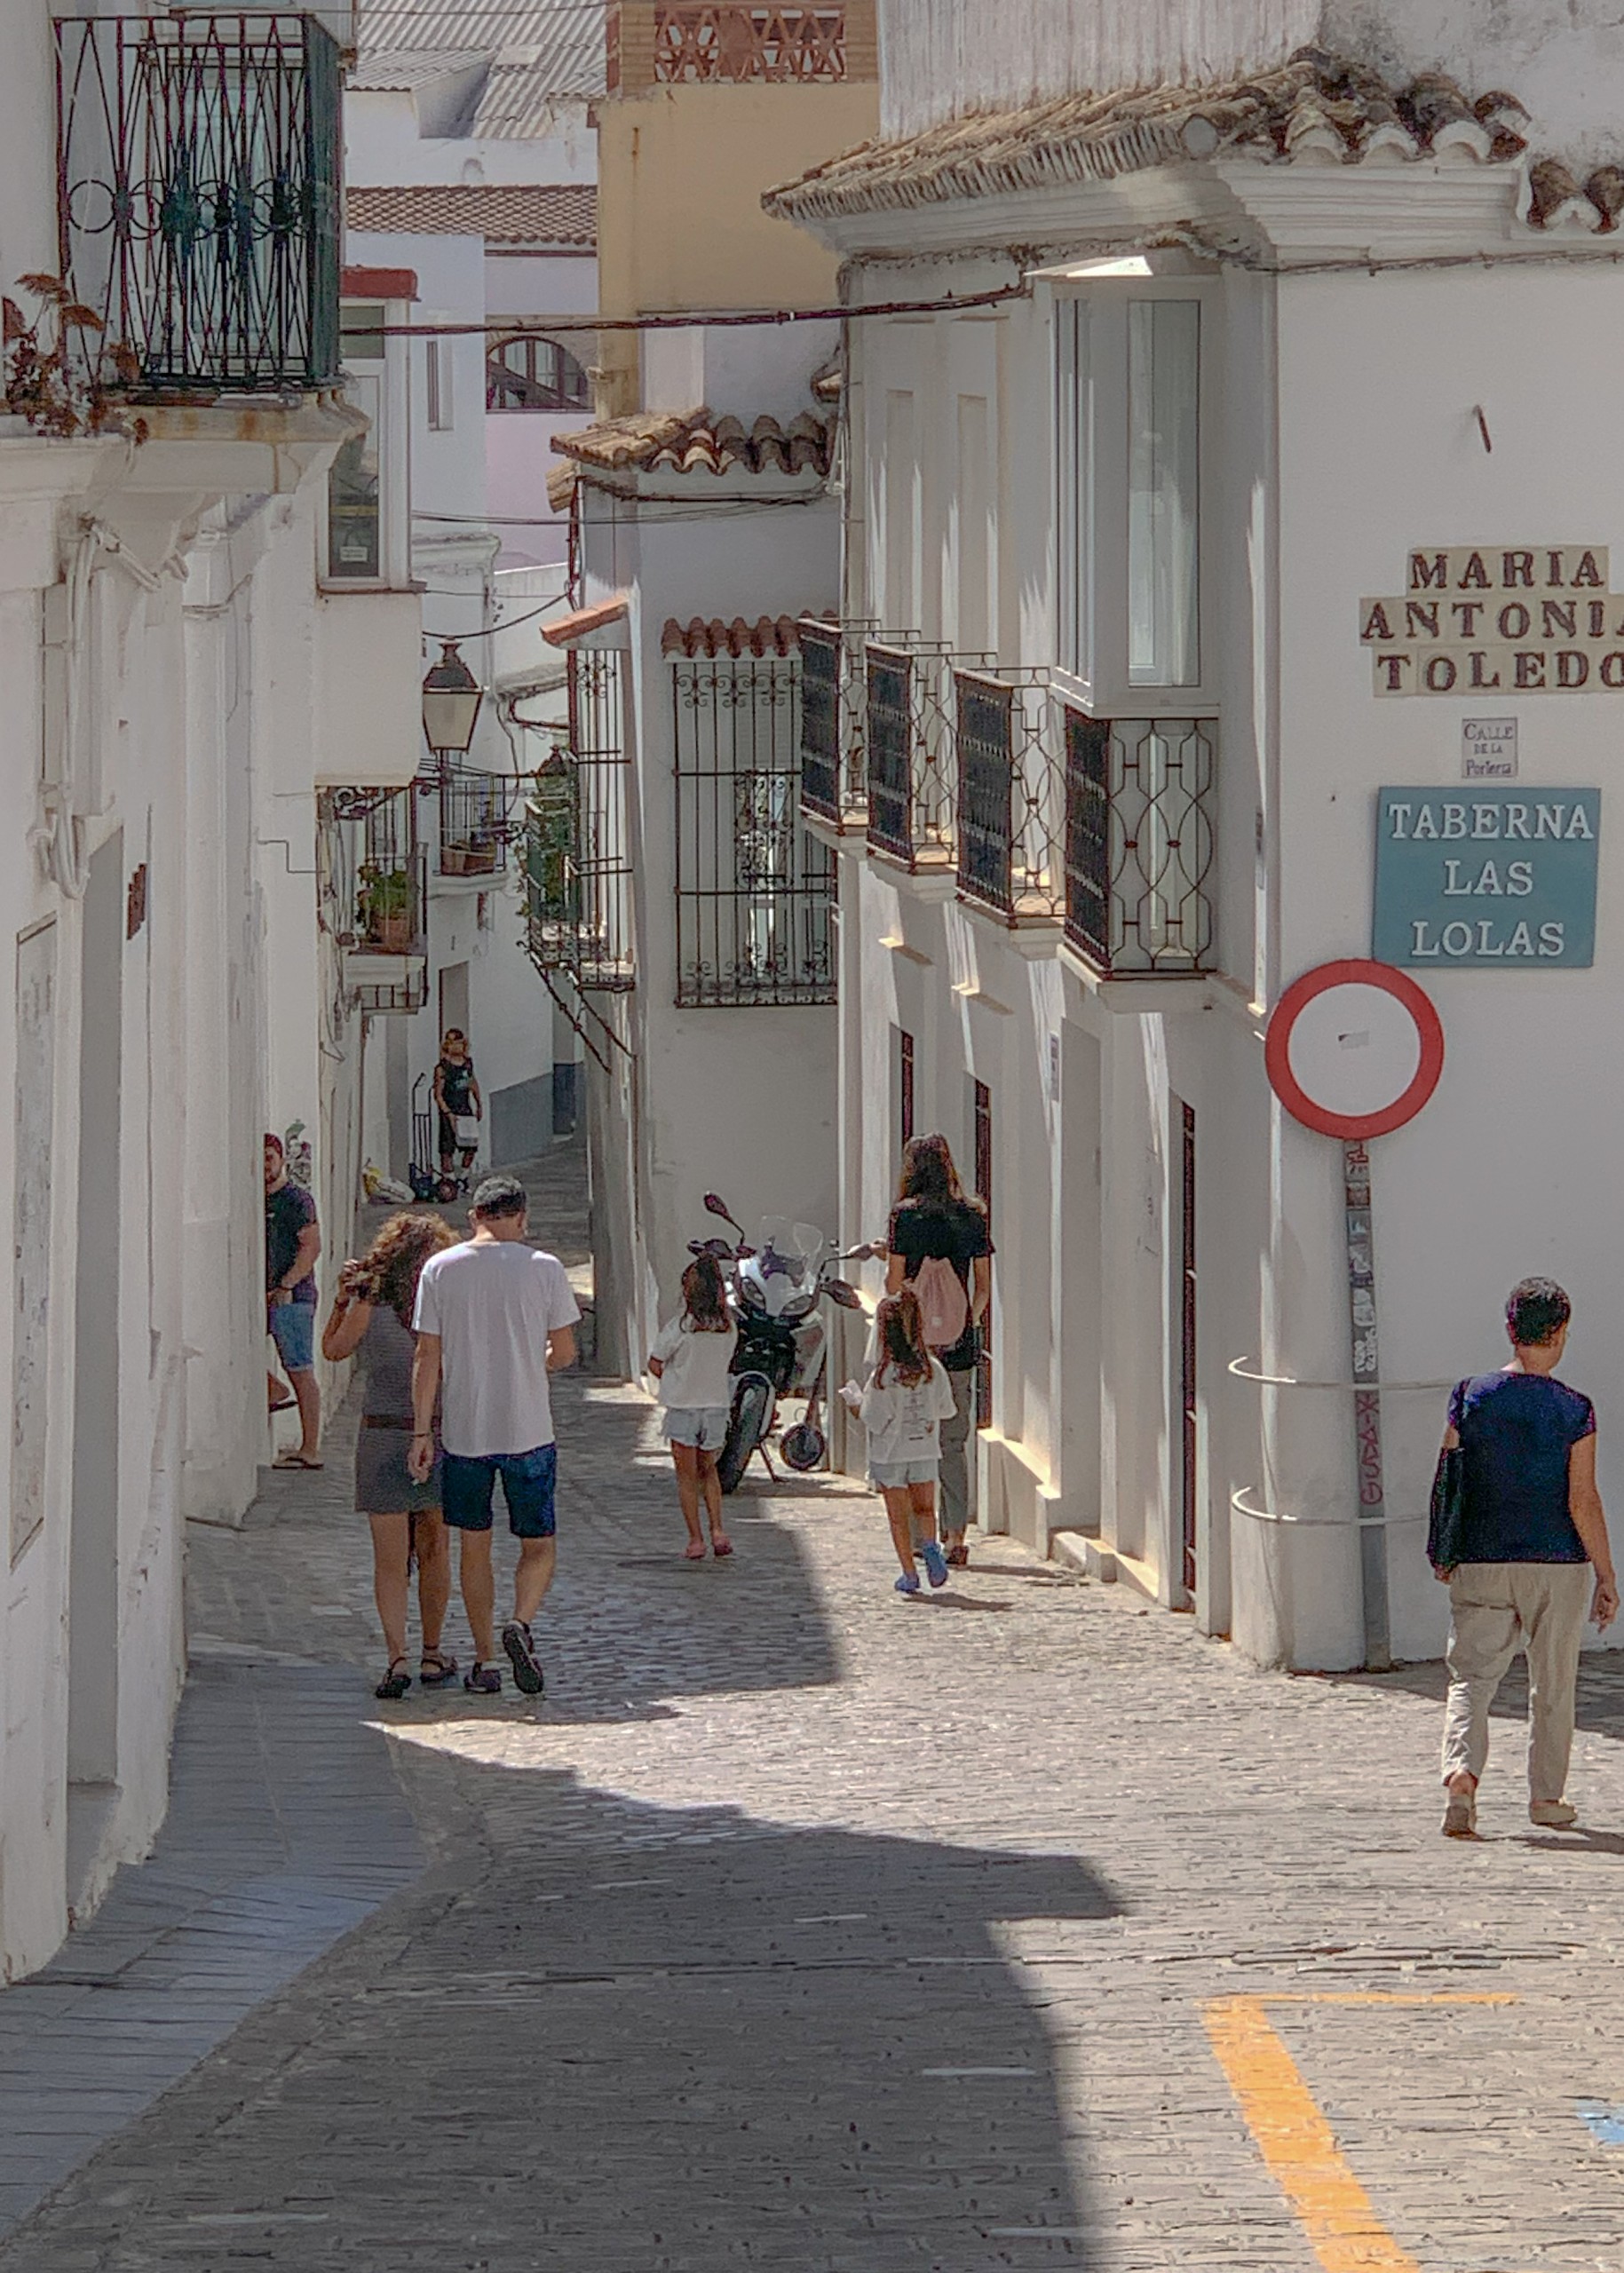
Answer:
<svg viewBox="0 0 1624 2273"><path fill-rule="evenodd" d="M958 836L953 668L989 666L908 634L864 648L869 846L910 868L951 868Z"/></svg>

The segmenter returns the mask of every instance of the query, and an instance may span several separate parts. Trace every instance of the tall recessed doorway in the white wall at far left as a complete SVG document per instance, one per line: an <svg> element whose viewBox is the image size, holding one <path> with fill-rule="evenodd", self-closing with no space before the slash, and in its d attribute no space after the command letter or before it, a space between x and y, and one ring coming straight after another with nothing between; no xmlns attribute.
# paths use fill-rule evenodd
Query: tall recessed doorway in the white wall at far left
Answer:
<svg viewBox="0 0 1624 2273"><path fill-rule="evenodd" d="M118 1791L118 1157L123 832L91 855L80 977L80 1248L73 1305L68 1548L68 1893Z"/></svg>

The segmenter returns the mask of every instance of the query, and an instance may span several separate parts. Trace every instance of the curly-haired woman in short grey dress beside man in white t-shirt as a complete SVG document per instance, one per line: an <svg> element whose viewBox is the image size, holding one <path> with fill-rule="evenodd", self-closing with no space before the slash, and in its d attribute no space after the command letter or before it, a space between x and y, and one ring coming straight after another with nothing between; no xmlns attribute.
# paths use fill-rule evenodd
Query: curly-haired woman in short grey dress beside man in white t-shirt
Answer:
<svg viewBox="0 0 1624 2273"><path fill-rule="evenodd" d="M389 1671L375 1696L403 1698L412 1687L405 1646L412 1562L423 1618L423 1689L441 1689L457 1659L439 1646L450 1600L450 1548L439 1518L439 1457L423 1484L407 1473L412 1450L412 1307L423 1264L457 1234L439 1216L391 1216L359 1262L339 1273L339 1300L321 1337L321 1355L362 1366L362 1425L355 1437L355 1509L373 1527L373 1589L384 1627Z"/></svg>

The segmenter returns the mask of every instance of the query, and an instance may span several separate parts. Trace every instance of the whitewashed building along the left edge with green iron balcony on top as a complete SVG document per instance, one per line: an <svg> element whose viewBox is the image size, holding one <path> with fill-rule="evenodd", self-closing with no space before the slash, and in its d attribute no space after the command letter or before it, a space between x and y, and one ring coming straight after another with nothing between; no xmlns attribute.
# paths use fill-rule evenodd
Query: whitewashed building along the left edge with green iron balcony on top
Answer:
<svg viewBox="0 0 1624 2273"><path fill-rule="evenodd" d="M323 584L328 468L357 427L337 384L341 50L323 16L52 25L23 0L7 32L14 1978L164 1816L184 1518L239 1521L268 1457L262 1130L291 1132L330 1252L348 1241L359 1052L318 927L316 796L407 777L421 727L416 598ZM246 186L280 180L293 209L221 268L184 195L146 230L114 184L134 150L180 145L200 180L225 175L227 118L255 127ZM59 364L64 259L102 330L68 311Z"/></svg>

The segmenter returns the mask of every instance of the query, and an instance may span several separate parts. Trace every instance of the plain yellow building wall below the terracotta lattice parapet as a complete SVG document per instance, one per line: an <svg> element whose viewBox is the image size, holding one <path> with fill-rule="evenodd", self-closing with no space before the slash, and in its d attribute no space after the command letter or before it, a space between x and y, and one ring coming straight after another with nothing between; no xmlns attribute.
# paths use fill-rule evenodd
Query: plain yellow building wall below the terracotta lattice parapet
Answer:
<svg viewBox="0 0 1624 2273"><path fill-rule="evenodd" d="M869 141L873 82L655 86L598 107L598 295L605 316L830 307L837 261L762 191ZM605 332L598 411L639 407L635 332Z"/></svg>

